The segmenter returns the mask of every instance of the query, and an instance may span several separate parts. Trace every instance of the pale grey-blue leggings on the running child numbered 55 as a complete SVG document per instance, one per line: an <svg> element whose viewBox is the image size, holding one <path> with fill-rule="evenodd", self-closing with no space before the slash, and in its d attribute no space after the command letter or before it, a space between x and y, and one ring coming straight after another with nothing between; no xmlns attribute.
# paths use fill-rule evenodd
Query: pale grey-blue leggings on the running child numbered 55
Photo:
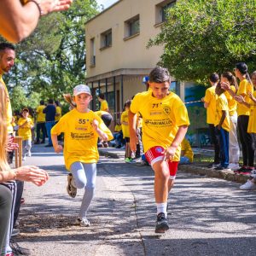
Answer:
<svg viewBox="0 0 256 256"><path fill-rule="evenodd" d="M85 218L90 202L93 198L96 186L96 163L83 164L74 162L70 170L72 172L75 186L84 189L84 197L79 211L79 218Z"/></svg>

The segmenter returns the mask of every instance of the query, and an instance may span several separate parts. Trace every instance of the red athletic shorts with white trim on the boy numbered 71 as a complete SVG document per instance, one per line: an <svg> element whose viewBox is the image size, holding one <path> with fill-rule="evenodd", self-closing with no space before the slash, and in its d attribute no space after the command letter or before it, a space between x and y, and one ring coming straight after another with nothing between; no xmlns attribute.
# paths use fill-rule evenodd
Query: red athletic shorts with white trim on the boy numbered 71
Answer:
<svg viewBox="0 0 256 256"><path fill-rule="evenodd" d="M164 151L165 151L165 149L160 146L156 146L156 147L148 149L148 151L145 153L148 163L151 166L153 166L154 163L156 163L160 160L163 160L163 158L164 158L163 152ZM175 177L176 177L177 165L178 165L178 161L168 160L168 166L169 166L169 172L170 172L171 179L175 179Z"/></svg>

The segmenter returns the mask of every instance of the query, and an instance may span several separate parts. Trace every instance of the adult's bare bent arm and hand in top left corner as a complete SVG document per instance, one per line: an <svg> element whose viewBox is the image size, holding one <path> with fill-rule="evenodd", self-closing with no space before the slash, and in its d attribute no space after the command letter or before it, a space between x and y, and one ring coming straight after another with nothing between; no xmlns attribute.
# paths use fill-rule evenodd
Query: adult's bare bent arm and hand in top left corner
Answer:
<svg viewBox="0 0 256 256"><path fill-rule="evenodd" d="M73 0L36 0L44 15L53 11L68 9ZM40 13L38 5L20 0L0 1L0 34L10 42L18 43L28 37L38 25Z"/></svg>

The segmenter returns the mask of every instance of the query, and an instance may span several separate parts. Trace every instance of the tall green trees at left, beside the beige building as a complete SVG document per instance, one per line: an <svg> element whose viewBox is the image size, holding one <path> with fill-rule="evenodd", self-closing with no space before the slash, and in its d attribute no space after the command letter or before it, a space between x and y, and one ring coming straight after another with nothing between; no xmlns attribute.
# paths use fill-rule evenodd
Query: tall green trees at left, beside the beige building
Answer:
<svg viewBox="0 0 256 256"><path fill-rule="evenodd" d="M16 46L15 68L4 78L10 94L16 86L24 88L33 107L40 99L61 100L63 93L84 83L84 23L97 13L96 0L76 0L67 11L43 17L36 31Z"/></svg>

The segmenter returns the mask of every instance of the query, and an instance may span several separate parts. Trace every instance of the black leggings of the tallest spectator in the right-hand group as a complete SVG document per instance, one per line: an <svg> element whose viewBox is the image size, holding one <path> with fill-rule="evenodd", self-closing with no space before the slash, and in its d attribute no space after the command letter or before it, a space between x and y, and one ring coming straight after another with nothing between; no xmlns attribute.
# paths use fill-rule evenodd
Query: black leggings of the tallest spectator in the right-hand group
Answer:
<svg viewBox="0 0 256 256"><path fill-rule="evenodd" d="M247 132L249 122L248 115L240 115L237 119L237 128L241 142L243 166L252 166L254 160L253 136Z"/></svg>

